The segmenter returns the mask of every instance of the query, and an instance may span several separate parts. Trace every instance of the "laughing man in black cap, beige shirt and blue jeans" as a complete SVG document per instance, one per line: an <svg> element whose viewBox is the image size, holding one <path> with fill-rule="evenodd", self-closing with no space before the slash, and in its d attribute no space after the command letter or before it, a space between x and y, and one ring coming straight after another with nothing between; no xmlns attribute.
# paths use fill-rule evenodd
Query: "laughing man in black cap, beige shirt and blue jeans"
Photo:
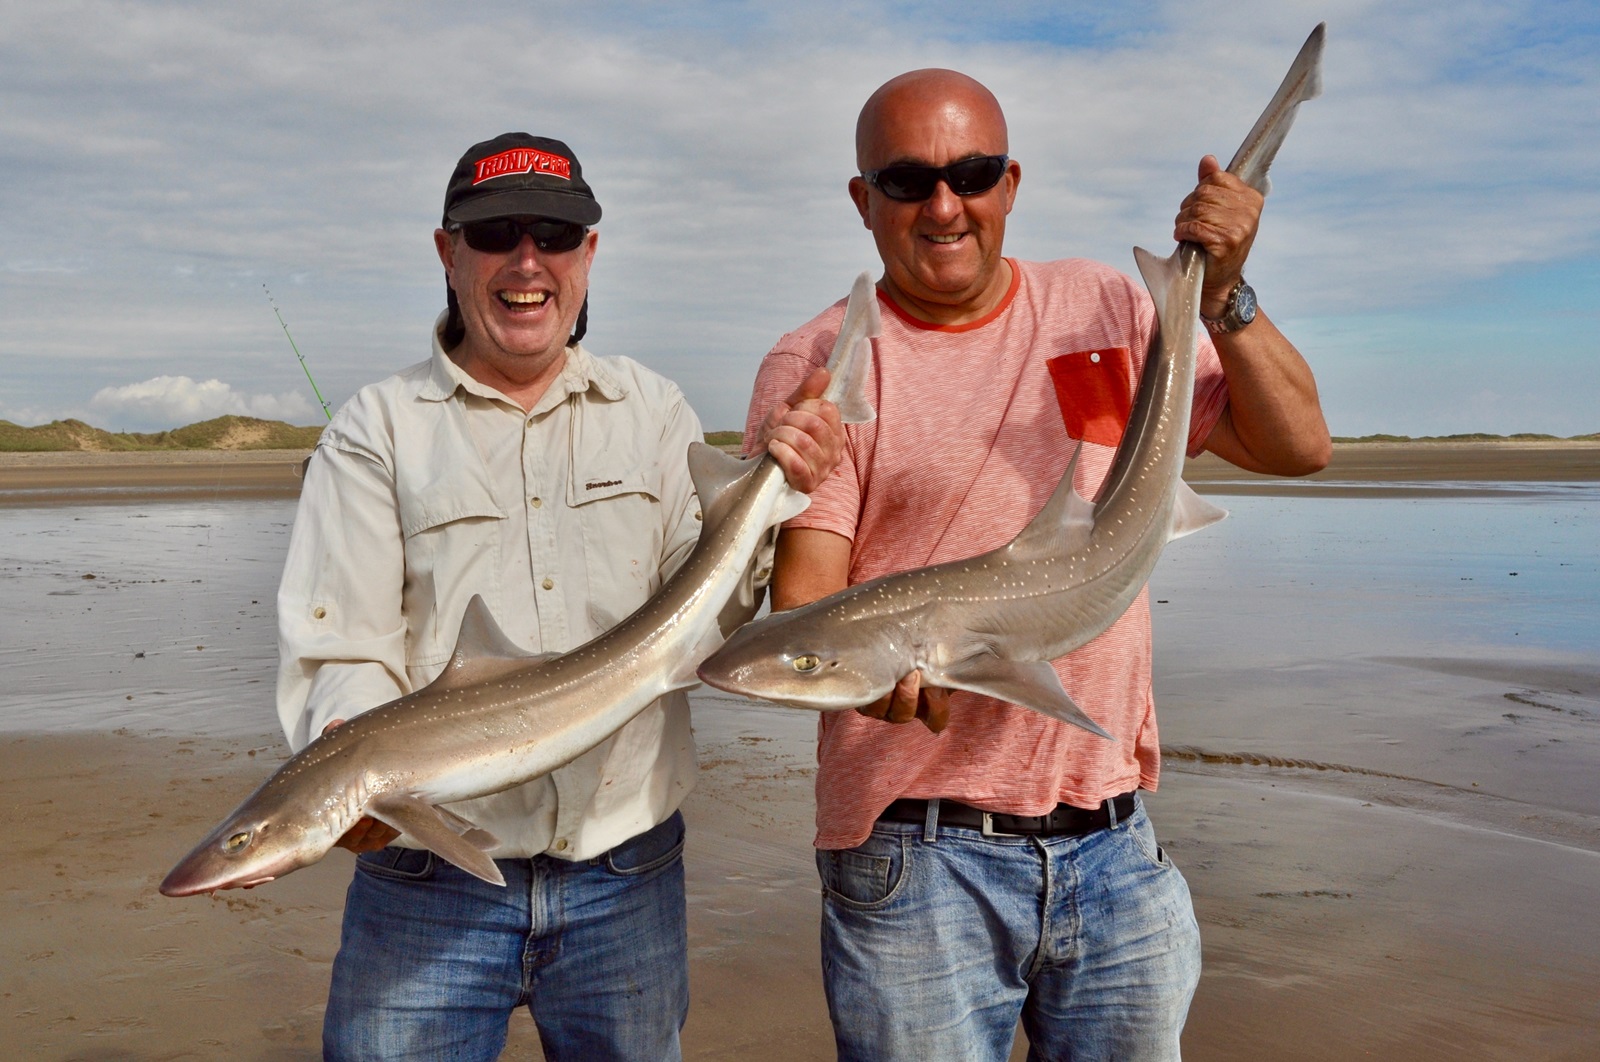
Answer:
<svg viewBox="0 0 1600 1062"><path fill-rule="evenodd" d="M560 141L474 146L434 242L432 357L323 430L278 592L278 713L298 750L445 667L472 595L534 653L638 608L688 555L701 425L670 382L579 339L600 205ZM797 489L838 461L826 373L770 417ZM323 1025L330 1059L494 1059L526 1004L544 1054L677 1059L688 1011L683 693L547 777L454 809L507 888L363 819Z"/></svg>

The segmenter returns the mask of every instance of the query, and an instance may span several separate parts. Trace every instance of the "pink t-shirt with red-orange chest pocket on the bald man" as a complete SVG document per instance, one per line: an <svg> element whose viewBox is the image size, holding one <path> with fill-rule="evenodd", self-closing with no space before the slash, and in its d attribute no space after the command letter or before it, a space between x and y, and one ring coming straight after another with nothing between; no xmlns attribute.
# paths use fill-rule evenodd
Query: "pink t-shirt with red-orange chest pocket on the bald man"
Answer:
<svg viewBox="0 0 1600 1062"><path fill-rule="evenodd" d="M851 541L850 582L973 557L1003 545L1045 505L1083 438L1075 485L1093 499L1110 470L1115 427L1144 365L1155 310L1117 270L1083 259L1011 264L1013 283L984 320L930 326L886 296L867 392L877 421L846 427L845 457L787 526ZM746 438L773 403L827 361L845 304L778 341L755 381ZM1189 448L1198 453L1227 403L1222 366L1200 337ZM1072 425L1074 435L1069 437ZM1054 662L1072 699L1117 736L957 691L931 734L856 712L821 717L818 848L853 848L899 796L944 796L989 811L1090 808L1160 771L1150 696L1147 592L1106 633Z"/></svg>

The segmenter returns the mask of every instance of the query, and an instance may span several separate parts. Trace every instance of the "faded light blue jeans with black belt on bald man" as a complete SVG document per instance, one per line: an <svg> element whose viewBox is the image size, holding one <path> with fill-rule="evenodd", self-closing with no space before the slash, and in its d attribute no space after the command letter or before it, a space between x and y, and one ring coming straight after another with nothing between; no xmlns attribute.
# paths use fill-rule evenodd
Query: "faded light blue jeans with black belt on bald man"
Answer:
<svg viewBox="0 0 1600 1062"><path fill-rule="evenodd" d="M1144 804L1086 836L878 822L818 851L838 1057L1178 1059L1200 980L1189 886Z"/></svg>

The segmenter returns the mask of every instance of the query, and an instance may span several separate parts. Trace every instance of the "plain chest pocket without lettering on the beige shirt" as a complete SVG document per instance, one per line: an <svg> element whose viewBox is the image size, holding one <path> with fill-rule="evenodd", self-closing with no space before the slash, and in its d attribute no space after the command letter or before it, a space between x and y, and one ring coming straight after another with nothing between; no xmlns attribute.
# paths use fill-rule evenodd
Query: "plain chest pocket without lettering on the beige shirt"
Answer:
<svg viewBox="0 0 1600 1062"><path fill-rule="evenodd" d="M414 686L438 673L456 648L474 593L496 611L499 537L506 512L469 478L400 491L405 539L406 672Z"/></svg>

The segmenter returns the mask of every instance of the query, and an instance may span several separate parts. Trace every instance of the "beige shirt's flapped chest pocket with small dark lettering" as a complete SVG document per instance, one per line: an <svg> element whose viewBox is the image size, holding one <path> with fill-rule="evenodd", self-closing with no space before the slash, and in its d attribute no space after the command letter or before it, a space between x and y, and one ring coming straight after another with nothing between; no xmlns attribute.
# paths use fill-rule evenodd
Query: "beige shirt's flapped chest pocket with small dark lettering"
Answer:
<svg viewBox="0 0 1600 1062"><path fill-rule="evenodd" d="M574 467L566 483L584 536L589 622L595 630L616 627L661 587L666 541L659 465L648 461L619 470L606 464Z"/></svg>

